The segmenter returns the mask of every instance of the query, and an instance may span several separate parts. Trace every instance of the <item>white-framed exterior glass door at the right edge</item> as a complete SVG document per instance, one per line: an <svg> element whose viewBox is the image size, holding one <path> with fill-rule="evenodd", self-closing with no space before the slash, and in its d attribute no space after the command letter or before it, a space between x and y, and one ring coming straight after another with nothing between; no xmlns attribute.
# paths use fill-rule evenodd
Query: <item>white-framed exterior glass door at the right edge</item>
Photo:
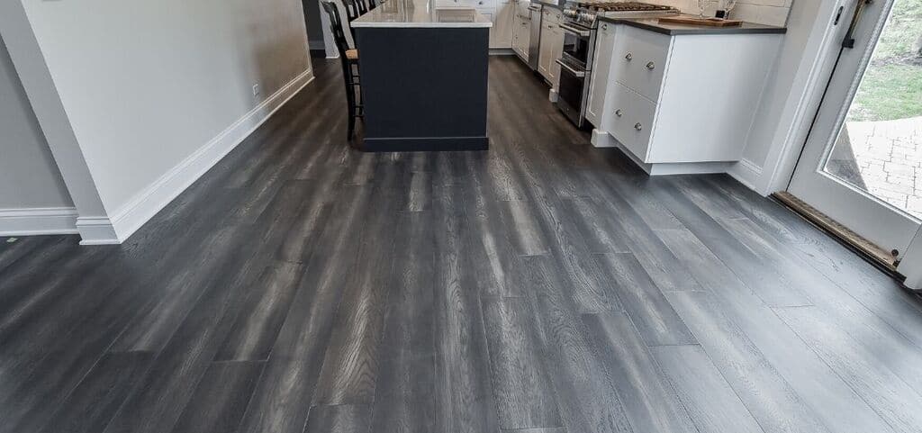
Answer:
<svg viewBox="0 0 922 433"><path fill-rule="evenodd" d="M922 218L922 0L849 0L788 193L899 260Z"/></svg>

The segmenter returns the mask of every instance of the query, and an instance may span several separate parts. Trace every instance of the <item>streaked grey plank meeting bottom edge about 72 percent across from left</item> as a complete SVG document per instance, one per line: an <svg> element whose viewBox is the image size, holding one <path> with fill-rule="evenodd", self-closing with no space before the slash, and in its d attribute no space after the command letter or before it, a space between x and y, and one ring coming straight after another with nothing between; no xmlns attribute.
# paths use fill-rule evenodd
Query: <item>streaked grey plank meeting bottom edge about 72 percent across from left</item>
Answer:
<svg viewBox="0 0 922 433"><path fill-rule="evenodd" d="M583 322L634 431L696 431L627 314L584 314Z"/></svg>

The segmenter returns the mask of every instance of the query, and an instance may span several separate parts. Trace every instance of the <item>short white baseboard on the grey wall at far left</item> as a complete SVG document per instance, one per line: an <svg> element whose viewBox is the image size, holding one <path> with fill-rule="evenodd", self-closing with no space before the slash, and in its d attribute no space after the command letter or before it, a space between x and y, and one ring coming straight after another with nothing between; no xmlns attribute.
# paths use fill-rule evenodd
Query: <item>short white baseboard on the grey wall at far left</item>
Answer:
<svg viewBox="0 0 922 433"><path fill-rule="evenodd" d="M0 236L72 235L77 233L74 207L0 209Z"/></svg>

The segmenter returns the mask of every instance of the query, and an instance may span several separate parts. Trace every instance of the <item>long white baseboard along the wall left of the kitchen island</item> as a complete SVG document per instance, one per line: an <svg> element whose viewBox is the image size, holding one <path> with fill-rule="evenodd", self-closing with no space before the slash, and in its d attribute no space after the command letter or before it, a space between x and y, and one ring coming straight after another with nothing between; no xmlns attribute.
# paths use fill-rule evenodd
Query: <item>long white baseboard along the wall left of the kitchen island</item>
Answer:
<svg viewBox="0 0 922 433"><path fill-rule="evenodd" d="M141 228L166 205L183 193L203 174L214 167L243 139L253 134L278 109L293 98L301 88L313 80L313 70L308 69L287 85L247 112L216 137L201 146L188 158L137 193L125 205L112 213L112 217L81 217L77 228L82 245L122 243Z"/></svg>

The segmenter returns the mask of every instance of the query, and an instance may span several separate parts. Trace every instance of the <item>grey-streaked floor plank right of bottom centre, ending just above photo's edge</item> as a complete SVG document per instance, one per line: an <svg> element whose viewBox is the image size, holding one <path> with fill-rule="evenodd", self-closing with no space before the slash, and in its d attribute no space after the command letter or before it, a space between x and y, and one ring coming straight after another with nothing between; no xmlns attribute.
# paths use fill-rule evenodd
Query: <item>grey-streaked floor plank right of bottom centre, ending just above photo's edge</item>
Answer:
<svg viewBox="0 0 922 433"><path fill-rule="evenodd" d="M528 301L488 297L481 303L500 427L560 427L561 415Z"/></svg>

